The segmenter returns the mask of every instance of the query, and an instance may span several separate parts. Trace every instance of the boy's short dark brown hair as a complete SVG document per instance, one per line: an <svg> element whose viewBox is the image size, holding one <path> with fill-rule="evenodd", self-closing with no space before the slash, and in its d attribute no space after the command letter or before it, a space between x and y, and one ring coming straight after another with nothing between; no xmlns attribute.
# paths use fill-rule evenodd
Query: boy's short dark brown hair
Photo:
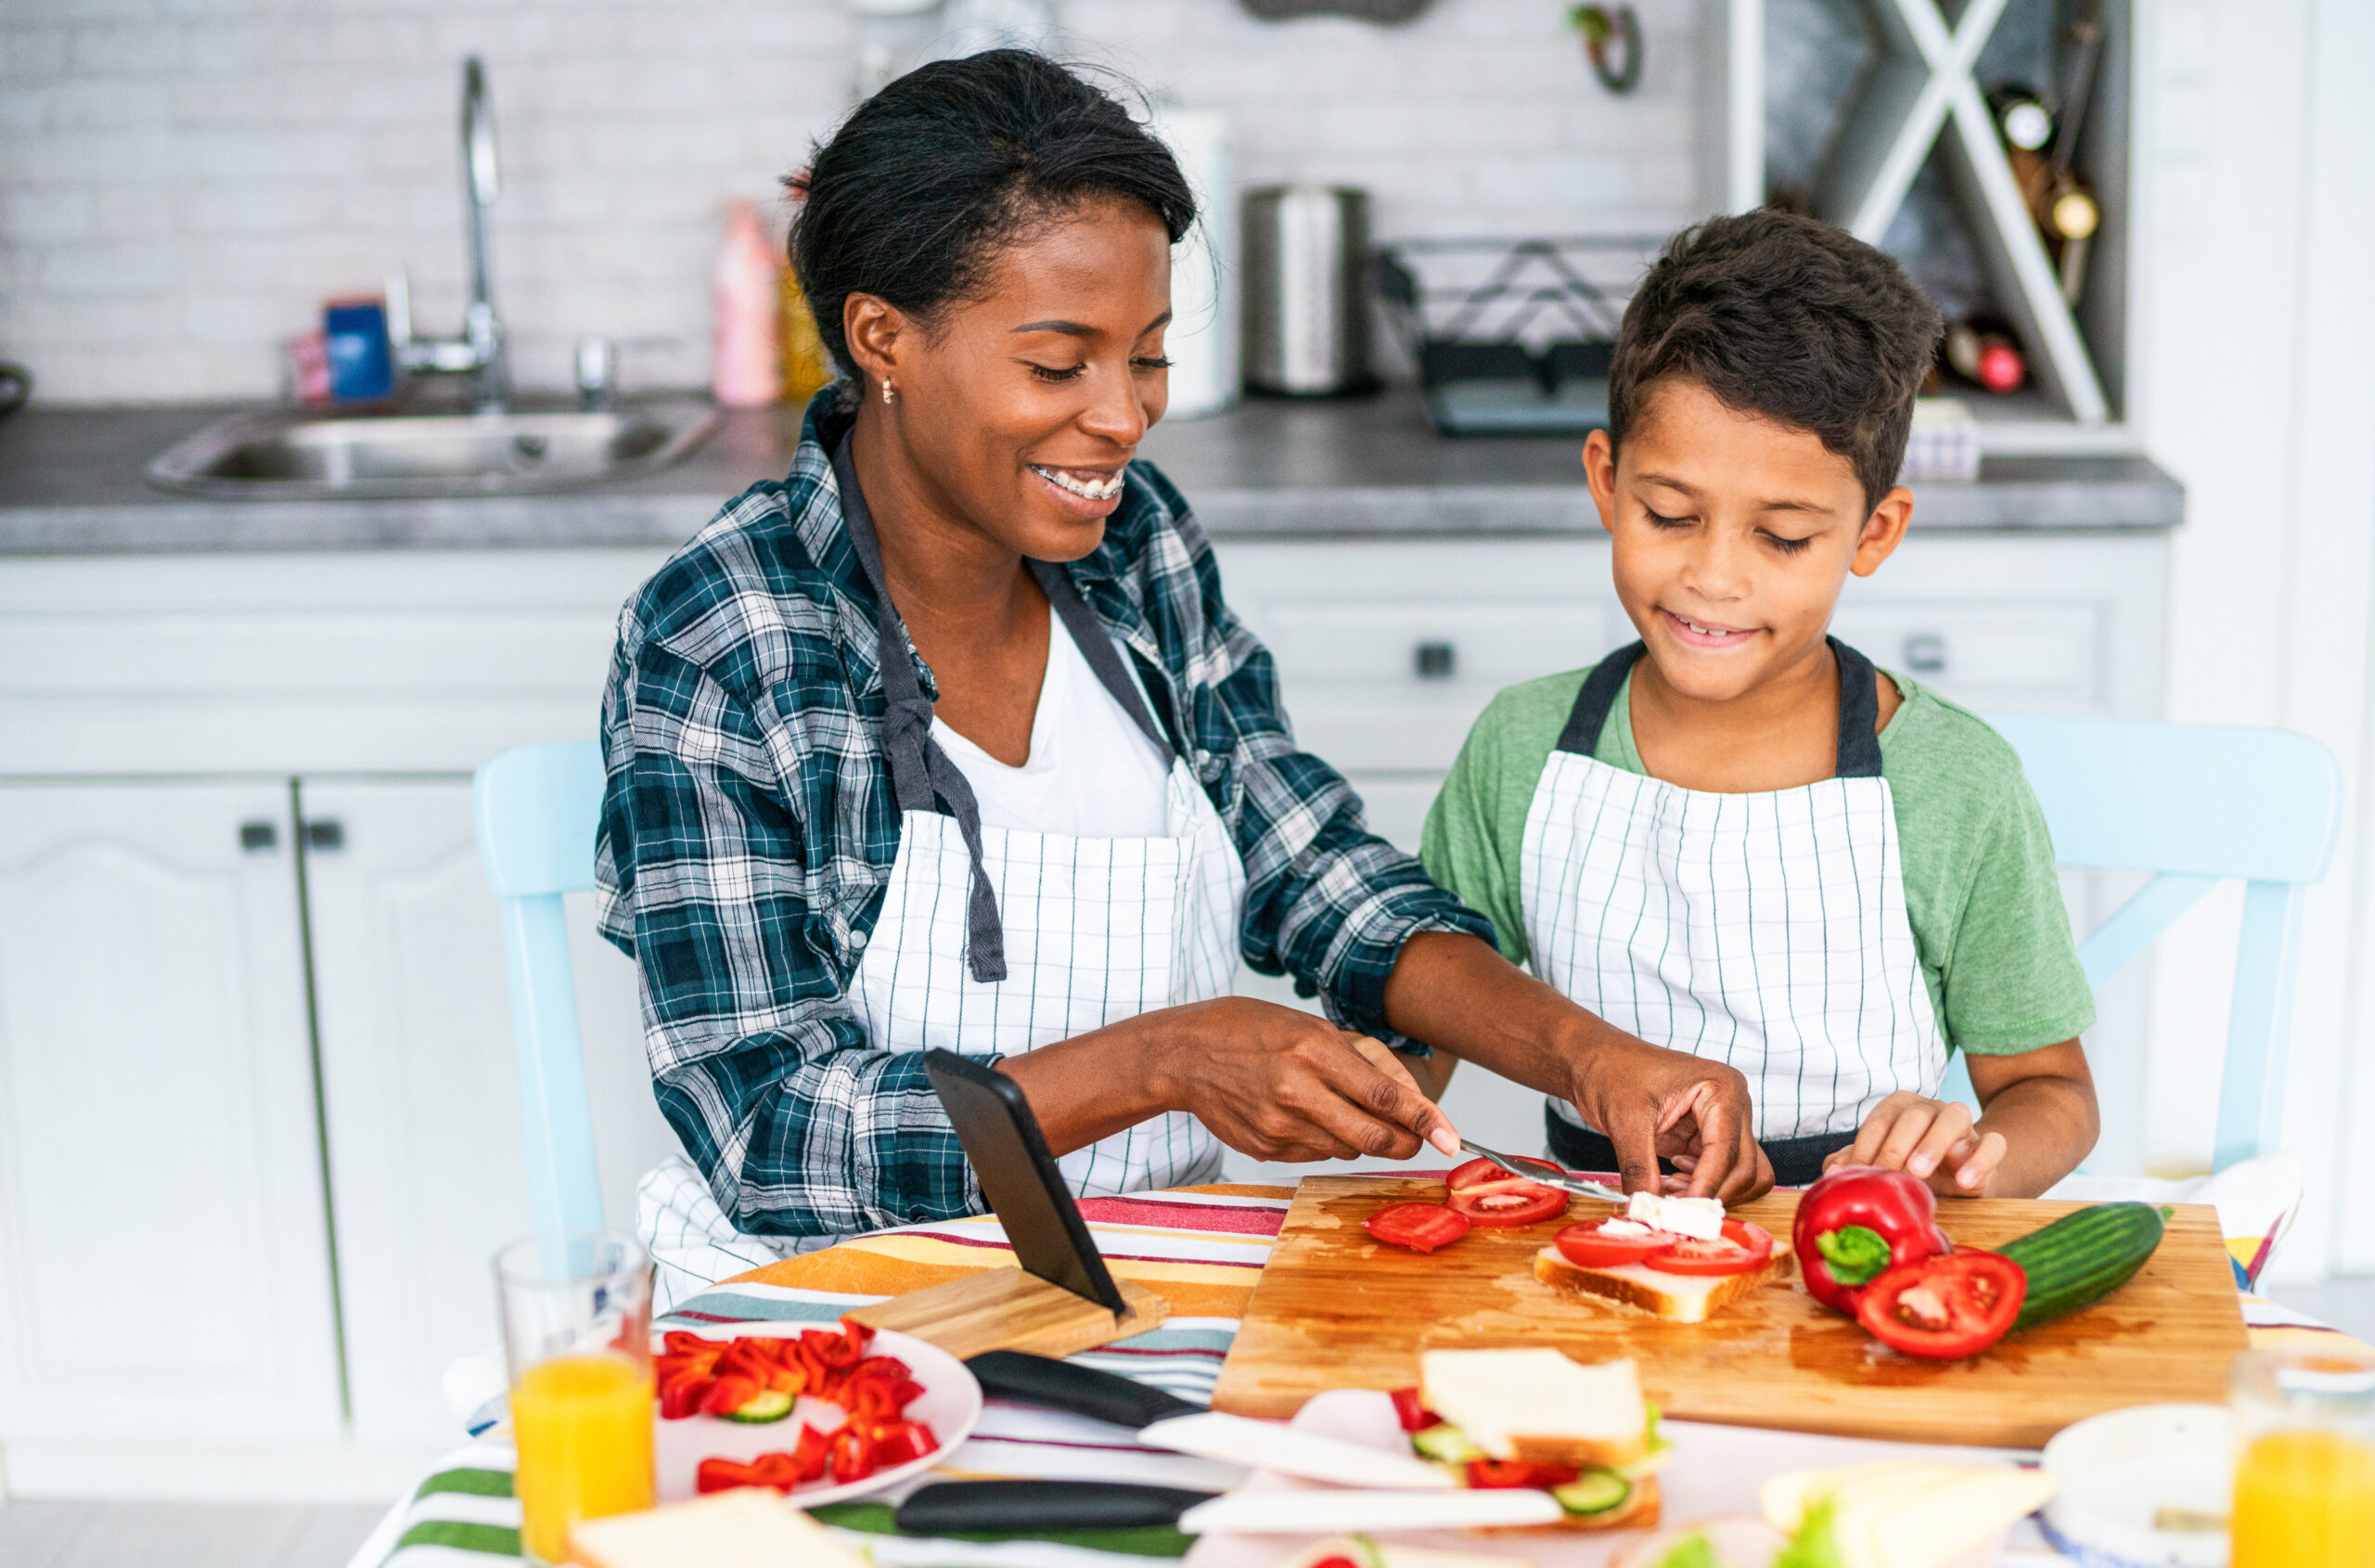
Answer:
<svg viewBox="0 0 2375 1568"><path fill-rule="evenodd" d="M1938 352L1938 306L1895 257L1788 211L1708 219L1641 278L1608 366L1617 444L1651 385L1696 380L1724 406L1812 430L1879 506Z"/></svg>

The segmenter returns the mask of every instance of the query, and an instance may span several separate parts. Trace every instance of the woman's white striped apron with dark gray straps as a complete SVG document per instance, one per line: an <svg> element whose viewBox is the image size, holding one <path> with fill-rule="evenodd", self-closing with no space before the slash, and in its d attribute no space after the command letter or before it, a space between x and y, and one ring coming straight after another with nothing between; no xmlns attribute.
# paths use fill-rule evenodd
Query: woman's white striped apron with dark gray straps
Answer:
<svg viewBox="0 0 2375 1568"><path fill-rule="evenodd" d="M1016 1055L1228 995L1244 862L1071 577L1062 565L1028 563L1097 682L1168 760L1164 836L1074 839L981 824L971 786L931 739L931 701L891 606L846 444L834 468L850 544L881 606L884 748L900 801L898 858L850 984L867 1038L881 1050ZM1057 1166L1078 1197L1173 1188L1218 1178L1221 1140L1188 1112L1164 1112ZM712 1281L846 1240L739 1233L701 1171L674 1155L644 1176L636 1209L660 1266L660 1311Z"/></svg>

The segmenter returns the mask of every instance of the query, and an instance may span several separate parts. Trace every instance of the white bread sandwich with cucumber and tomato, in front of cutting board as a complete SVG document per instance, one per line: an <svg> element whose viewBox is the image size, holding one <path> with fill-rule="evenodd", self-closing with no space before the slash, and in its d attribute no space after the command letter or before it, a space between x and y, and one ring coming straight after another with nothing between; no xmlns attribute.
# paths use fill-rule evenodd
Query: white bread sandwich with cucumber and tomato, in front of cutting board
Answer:
<svg viewBox="0 0 2375 1568"><path fill-rule="evenodd" d="M1632 1361L1556 1349L1427 1349L1394 1399L1411 1452L1468 1487L1539 1487L1579 1530L1658 1523L1658 1406Z"/></svg>

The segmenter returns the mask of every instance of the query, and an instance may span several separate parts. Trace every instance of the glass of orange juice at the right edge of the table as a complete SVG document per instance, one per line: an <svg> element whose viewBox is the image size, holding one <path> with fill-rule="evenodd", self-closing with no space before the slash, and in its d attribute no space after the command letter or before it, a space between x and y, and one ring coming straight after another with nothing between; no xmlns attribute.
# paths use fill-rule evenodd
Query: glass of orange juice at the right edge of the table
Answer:
<svg viewBox="0 0 2375 1568"><path fill-rule="evenodd" d="M2230 1568L2375 1563L2375 1359L2254 1349L2230 1390Z"/></svg>

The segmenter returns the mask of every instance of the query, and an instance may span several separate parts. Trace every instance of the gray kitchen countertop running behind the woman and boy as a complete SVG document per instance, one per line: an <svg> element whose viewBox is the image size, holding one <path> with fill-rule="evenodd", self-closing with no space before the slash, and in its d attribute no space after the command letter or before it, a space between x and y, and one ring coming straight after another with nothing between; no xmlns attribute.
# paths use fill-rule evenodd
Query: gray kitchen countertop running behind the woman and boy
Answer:
<svg viewBox="0 0 2375 1568"><path fill-rule="evenodd" d="M622 485L437 501L202 501L154 489L152 456L226 409L28 409L0 418L0 556L226 549L670 546L791 466L796 409L729 413L674 468ZM1575 535L1598 527L1572 440L1444 440L1411 392L1249 402L1147 435L1218 537ZM1914 527L2159 530L2185 489L2140 456L1988 459L1976 485L1917 485Z"/></svg>

